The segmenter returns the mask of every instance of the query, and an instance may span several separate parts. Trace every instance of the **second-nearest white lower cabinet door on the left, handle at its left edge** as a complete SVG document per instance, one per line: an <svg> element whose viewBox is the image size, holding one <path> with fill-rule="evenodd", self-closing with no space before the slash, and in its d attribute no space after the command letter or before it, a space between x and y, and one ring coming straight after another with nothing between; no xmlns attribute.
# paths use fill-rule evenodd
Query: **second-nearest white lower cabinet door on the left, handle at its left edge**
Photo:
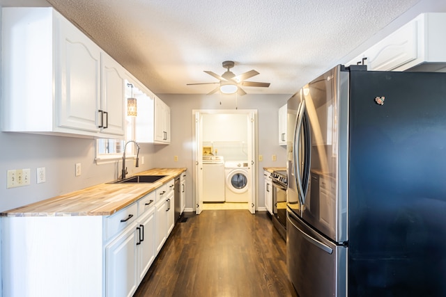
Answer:
<svg viewBox="0 0 446 297"><path fill-rule="evenodd" d="M138 277L139 282L144 278L148 268L155 259L155 207L146 211L139 218L138 245Z"/></svg>

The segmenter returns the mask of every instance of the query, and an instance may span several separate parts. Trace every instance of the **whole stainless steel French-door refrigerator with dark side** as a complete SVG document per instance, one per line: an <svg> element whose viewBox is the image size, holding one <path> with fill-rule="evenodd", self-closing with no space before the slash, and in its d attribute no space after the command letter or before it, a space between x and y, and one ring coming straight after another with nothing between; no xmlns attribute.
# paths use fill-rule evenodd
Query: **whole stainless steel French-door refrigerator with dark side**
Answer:
<svg viewBox="0 0 446 297"><path fill-rule="evenodd" d="M338 65L288 101L300 297L446 296L446 73Z"/></svg>

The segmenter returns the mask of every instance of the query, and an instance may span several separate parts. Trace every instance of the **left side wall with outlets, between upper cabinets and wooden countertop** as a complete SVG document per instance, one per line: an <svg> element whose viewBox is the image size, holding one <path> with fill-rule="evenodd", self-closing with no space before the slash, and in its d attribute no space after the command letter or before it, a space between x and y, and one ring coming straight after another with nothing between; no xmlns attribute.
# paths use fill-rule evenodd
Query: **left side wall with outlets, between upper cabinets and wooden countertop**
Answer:
<svg viewBox="0 0 446 297"><path fill-rule="evenodd" d="M96 165L93 139L0 132L0 143L0 211L110 182L121 174L121 161ZM139 154L145 156L145 164L140 159L139 168L134 168L128 161L129 173L153 167L153 147L141 145ZM75 163L82 164L79 177L75 177ZM39 167L46 168L43 184L36 184ZM7 170L23 168L31 169L31 185L7 189Z"/></svg>

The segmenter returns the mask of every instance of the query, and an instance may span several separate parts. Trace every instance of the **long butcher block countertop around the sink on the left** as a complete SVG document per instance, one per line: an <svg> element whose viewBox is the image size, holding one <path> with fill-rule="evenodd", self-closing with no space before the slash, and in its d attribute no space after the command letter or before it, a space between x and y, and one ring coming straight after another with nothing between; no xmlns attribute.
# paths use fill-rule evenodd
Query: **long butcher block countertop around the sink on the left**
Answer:
<svg viewBox="0 0 446 297"><path fill-rule="evenodd" d="M166 175L166 177L150 184L98 184L10 209L0 213L0 216L109 216L169 182L185 170L187 168L153 168L137 175Z"/></svg>

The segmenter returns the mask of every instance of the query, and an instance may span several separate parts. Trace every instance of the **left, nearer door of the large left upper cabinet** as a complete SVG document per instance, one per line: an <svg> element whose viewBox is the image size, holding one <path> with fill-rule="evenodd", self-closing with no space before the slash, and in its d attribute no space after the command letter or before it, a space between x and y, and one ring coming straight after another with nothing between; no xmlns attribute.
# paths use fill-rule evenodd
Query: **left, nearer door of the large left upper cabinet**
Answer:
<svg viewBox="0 0 446 297"><path fill-rule="evenodd" d="M59 127L99 131L100 48L68 20L61 22Z"/></svg>

